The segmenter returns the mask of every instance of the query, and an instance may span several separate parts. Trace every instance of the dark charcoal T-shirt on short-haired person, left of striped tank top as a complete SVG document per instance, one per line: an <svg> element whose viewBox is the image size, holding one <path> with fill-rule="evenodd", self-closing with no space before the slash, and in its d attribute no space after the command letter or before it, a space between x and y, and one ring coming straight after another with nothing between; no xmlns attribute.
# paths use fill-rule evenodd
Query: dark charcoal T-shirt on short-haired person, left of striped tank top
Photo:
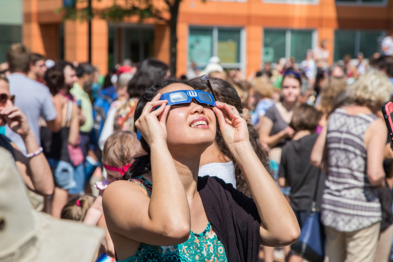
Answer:
<svg viewBox="0 0 393 262"><path fill-rule="evenodd" d="M311 208L319 170L311 166L310 155L317 138L318 134L308 135L282 148L279 177L285 177L292 187L289 198L293 210L307 211ZM320 184L324 180L325 174L321 172Z"/></svg>

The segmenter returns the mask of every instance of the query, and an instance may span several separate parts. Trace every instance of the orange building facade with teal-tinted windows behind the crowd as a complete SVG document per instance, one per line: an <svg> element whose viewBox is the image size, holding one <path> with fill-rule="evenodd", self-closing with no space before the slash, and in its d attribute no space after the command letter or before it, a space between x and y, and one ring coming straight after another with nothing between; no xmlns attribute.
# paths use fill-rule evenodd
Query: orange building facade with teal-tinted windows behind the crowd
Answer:
<svg viewBox="0 0 393 262"><path fill-rule="evenodd" d="M63 1L23 0L22 40L33 52L54 60L86 61L88 23L63 22L56 12ZM92 0L92 5L100 8L110 2ZM225 68L248 75L281 57L300 62L322 39L329 41L329 62L358 52L370 57L392 28L393 4L388 0L182 0L177 75L192 62L203 68L211 56L218 56ZM166 25L92 20L91 62L101 73L124 58L149 57L169 62Z"/></svg>

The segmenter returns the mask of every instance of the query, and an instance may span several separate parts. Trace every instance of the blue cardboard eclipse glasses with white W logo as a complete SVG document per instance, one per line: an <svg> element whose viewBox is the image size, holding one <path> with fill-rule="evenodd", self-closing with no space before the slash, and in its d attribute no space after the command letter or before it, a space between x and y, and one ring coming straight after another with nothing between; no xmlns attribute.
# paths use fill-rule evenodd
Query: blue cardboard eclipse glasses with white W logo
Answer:
<svg viewBox="0 0 393 262"><path fill-rule="evenodd" d="M171 107L186 107L193 99L202 107L213 108L216 106L213 95L200 90L172 91L162 94L160 98L160 100L168 100L167 105ZM142 138L139 130L137 130L137 138L138 140Z"/></svg>

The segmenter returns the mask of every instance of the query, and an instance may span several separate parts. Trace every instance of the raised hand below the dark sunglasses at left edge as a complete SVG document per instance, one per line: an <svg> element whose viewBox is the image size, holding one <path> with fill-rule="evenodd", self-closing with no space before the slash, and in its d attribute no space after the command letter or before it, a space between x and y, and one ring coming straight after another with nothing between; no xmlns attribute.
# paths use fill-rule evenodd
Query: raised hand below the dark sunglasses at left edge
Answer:
<svg viewBox="0 0 393 262"><path fill-rule="evenodd" d="M12 131L19 134L22 138L29 134L30 126L28 125L28 119L19 107L5 107L0 111L0 115Z"/></svg>

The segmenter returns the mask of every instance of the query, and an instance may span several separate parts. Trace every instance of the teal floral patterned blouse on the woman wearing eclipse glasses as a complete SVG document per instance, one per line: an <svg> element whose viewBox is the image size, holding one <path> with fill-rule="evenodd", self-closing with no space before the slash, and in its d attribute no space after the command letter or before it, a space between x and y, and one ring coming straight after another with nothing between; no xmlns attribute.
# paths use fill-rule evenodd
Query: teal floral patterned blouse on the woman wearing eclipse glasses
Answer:
<svg viewBox="0 0 393 262"><path fill-rule="evenodd" d="M151 197L152 185L141 176L130 179L139 184ZM117 262L227 262L223 243L211 228L210 222L200 233L191 231L186 242L174 246L154 246L140 243L137 253Z"/></svg>

